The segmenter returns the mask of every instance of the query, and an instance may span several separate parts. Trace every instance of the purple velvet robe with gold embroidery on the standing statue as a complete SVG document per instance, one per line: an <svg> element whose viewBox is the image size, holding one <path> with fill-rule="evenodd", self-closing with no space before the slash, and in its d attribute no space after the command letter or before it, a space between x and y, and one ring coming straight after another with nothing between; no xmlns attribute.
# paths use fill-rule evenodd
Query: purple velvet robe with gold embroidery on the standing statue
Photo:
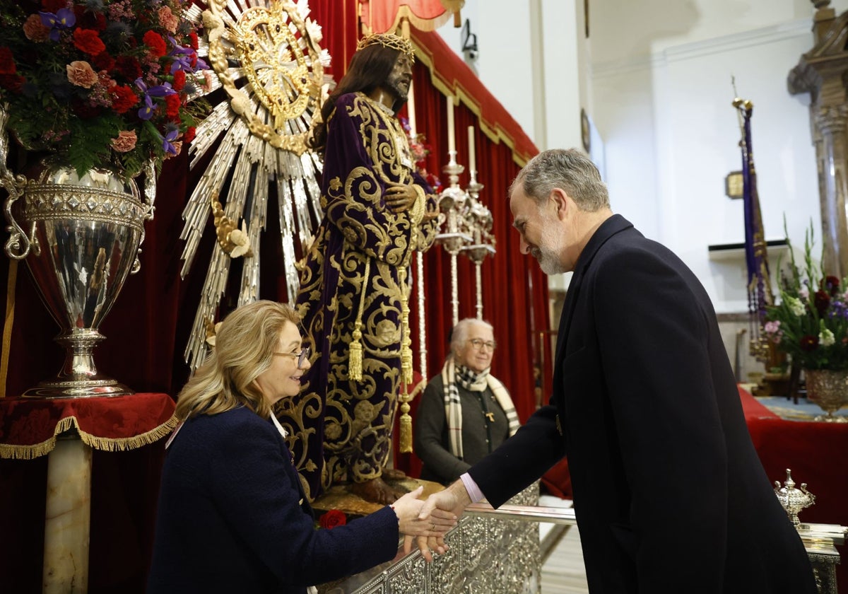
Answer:
<svg viewBox="0 0 848 594"><path fill-rule="evenodd" d="M414 184L405 212L388 209L389 184ZM432 188L415 171L399 120L361 92L338 98L327 125L321 177L324 219L303 270L297 309L312 367L298 398L283 403L295 463L307 494L382 474L391 446L404 331L416 249L432 245ZM362 379L348 377L354 322L362 326Z"/></svg>

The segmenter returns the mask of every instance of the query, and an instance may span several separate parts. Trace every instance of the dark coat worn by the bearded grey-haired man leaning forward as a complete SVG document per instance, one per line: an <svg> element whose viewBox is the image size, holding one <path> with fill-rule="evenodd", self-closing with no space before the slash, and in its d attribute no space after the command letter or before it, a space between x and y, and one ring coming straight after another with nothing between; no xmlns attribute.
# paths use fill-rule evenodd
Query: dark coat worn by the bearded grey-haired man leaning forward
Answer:
<svg viewBox="0 0 848 594"><path fill-rule="evenodd" d="M550 405L469 473L499 506L563 455L593 594L816 591L709 296L622 216L577 260Z"/></svg>

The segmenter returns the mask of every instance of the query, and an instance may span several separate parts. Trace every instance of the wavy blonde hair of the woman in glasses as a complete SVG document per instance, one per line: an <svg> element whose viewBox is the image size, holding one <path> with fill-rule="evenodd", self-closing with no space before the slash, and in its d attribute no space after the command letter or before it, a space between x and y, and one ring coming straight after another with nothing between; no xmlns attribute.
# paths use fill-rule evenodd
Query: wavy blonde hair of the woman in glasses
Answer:
<svg viewBox="0 0 848 594"><path fill-rule="evenodd" d="M215 415L248 406L260 417L271 415L254 380L268 367L280 345L286 322L300 322L290 305L254 301L233 310L215 334L215 348L176 397L176 417Z"/></svg>

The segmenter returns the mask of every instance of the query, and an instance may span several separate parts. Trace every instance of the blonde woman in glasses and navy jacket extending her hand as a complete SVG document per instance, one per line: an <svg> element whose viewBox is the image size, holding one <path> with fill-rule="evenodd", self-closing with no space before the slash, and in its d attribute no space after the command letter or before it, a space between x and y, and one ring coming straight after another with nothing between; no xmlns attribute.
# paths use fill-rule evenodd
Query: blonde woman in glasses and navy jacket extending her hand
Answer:
<svg viewBox="0 0 848 594"><path fill-rule="evenodd" d="M177 399L148 592L307 592L398 552L399 533L444 534L452 514L417 518L421 489L333 530L312 509L271 407L298 394L309 350L288 305L233 311ZM311 588L310 588L311 590Z"/></svg>

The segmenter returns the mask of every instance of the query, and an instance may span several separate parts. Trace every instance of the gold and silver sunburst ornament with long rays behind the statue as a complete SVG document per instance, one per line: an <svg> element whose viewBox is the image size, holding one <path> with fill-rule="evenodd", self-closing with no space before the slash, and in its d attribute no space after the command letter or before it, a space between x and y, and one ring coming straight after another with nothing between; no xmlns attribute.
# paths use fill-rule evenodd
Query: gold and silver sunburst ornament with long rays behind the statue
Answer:
<svg viewBox="0 0 848 594"><path fill-rule="evenodd" d="M307 0L211 0L205 9L201 3L192 8L206 30L205 47L198 53L206 50L214 73L206 91L222 89L226 100L198 126L192 143L190 167L208 163L183 211L181 275L188 274L210 217L236 228L242 221L239 233L246 234L245 254L249 251L252 257L240 260L237 303L258 299L259 237L268 201L276 198L282 266L288 299L293 301L298 291L296 262L321 219L316 179L321 160L306 146L312 120L320 115L326 97L324 68L330 56L318 45L321 26L310 20ZM209 151L212 156L204 159ZM244 221L249 221L247 227ZM230 262L219 244L209 261L185 350L192 369L204 360L207 324L215 319L224 296Z"/></svg>

